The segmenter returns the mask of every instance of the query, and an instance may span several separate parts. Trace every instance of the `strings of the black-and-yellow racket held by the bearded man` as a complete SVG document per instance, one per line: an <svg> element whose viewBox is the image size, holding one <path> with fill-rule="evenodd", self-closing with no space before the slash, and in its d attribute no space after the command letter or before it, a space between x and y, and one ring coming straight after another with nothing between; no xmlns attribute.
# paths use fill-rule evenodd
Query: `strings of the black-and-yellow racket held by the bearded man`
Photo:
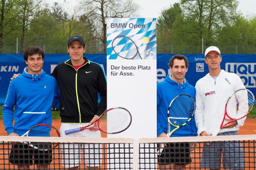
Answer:
<svg viewBox="0 0 256 170"><path fill-rule="evenodd" d="M169 121L176 126L186 123L195 111L194 100L187 95L176 97L169 108Z"/></svg>

